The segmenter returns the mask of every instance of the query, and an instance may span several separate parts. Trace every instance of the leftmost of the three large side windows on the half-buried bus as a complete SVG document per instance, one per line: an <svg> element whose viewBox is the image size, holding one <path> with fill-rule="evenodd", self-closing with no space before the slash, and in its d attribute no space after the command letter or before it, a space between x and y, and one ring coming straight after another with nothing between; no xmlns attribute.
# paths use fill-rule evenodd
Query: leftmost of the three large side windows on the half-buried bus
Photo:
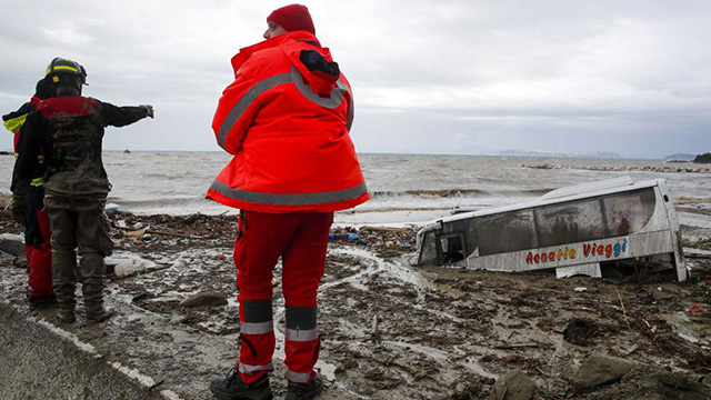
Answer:
<svg viewBox="0 0 711 400"><path fill-rule="evenodd" d="M519 210L474 219L479 256L535 248L533 210Z"/></svg>

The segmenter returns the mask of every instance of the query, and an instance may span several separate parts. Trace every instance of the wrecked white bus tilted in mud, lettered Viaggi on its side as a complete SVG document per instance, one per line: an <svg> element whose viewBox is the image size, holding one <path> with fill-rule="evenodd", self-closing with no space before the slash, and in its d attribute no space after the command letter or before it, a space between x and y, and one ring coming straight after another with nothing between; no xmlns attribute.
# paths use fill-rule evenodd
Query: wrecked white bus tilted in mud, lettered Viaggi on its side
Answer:
<svg viewBox="0 0 711 400"><path fill-rule="evenodd" d="M557 189L531 202L458 212L422 228L418 252L419 264L555 268L559 276L600 276L600 263L644 259L687 279L679 219L663 179L622 177Z"/></svg>

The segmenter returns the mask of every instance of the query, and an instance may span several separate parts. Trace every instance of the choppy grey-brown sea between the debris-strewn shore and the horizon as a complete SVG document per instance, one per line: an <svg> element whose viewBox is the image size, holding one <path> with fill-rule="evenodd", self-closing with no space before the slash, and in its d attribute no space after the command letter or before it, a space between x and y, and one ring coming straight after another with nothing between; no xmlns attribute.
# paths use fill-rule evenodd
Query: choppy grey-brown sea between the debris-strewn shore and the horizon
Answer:
<svg viewBox="0 0 711 400"><path fill-rule="evenodd" d="M419 224L449 214L455 207L483 208L530 201L552 189L625 174L635 181L663 178L674 198L711 198L709 173L584 169L670 166L662 160L425 154L360 154L359 158L372 199L351 211L337 213L337 223ZM224 152L104 152L104 167L113 186L109 202L139 214L234 212L204 199L212 180L229 161L230 156ZM523 164L554 168L532 169ZM4 171L0 176L0 192L9 193L12 157L0 157L0 166Z"/></svg>

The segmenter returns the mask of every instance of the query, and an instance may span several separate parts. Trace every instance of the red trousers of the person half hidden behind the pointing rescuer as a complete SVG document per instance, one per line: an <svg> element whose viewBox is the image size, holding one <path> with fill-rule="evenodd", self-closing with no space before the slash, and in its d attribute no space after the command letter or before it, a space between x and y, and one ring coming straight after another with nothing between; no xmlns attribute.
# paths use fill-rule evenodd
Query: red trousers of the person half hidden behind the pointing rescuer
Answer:
<svg viewBox="0 0 711 400"><path fill-rule="evenodd" d="M34 224L28 231L38 230L42 241L40 246L36 239L34 243L24 247L29 282L28 292L31 298L41 300L48 296L54 296L54 290L52 290L52 247L50 244L49 218L44 210L29 212L33 212L36 218L31 218L28 222Z"/></svg>

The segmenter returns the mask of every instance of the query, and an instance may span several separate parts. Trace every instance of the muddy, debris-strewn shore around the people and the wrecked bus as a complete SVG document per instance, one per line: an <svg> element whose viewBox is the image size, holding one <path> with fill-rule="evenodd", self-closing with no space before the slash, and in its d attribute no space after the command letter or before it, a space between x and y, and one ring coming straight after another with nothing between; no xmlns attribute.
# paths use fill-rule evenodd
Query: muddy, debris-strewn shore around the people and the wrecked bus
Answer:
<svg viewBox="0 0 711 400"><path fill-rule="evenodd" d="M413 267L414 229L334 230L319 293L321 398L484 399L495 379L513 369L535 382L541 399L699 398L689 388L711 372L711 217L708 199L698 200L704 204L680 204L703 222L682 226L692 267L682 283L671 271L643 267L562 280L551 271ZM237 354L236 218L112 219L113 258L131 259L134 269L107 280L107 301L117 313L100 326L80 318L61 328L107 361L153 377L158 389L211 398L210 379L226 373ZM3 211L0 233L19 230ZM349 233L359 237L349 240ZM0 300L57 323L51 308L24 303L24 270L12 261L0 254ZM279 281L280 266L274 319L283 342ZM228 304L181 306L206 290L223 292ZM620 382L573 394L571 378L581 361L601 354L638 367ZM279 398L286 387L281 344L276 359L272 388Z"/></svg>

